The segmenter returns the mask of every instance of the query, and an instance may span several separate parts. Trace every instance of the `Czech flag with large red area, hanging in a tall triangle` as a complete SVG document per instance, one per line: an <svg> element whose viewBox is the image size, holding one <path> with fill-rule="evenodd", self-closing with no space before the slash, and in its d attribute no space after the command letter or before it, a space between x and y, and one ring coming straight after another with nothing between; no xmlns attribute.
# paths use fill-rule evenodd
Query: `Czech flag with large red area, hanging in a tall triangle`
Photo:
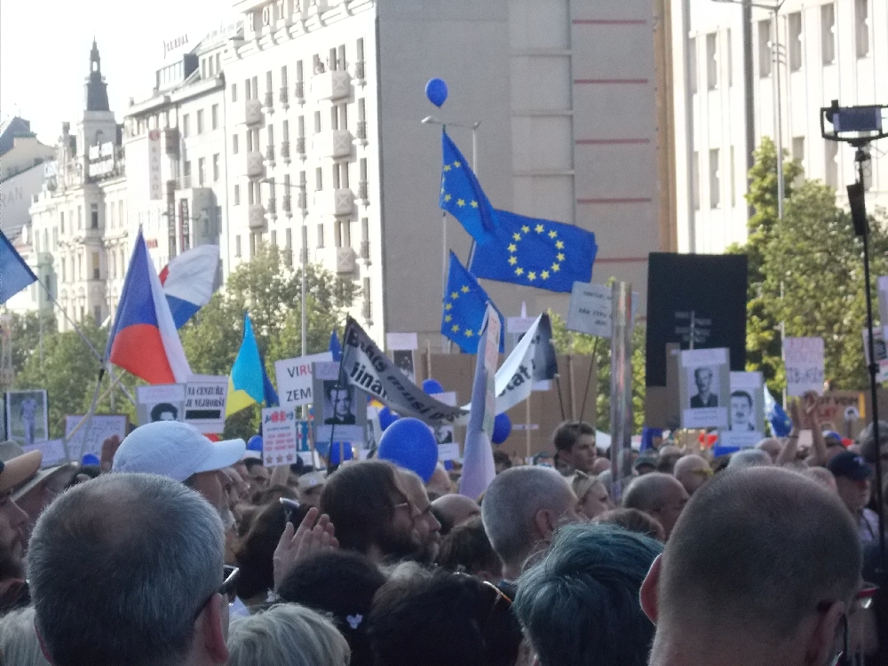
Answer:
<svg viewBox="0 0 888 666"><path fill-rule="evenodd" d="M191 376L141 229L123 281L105 357L148 384L181 384Z"/></svg>

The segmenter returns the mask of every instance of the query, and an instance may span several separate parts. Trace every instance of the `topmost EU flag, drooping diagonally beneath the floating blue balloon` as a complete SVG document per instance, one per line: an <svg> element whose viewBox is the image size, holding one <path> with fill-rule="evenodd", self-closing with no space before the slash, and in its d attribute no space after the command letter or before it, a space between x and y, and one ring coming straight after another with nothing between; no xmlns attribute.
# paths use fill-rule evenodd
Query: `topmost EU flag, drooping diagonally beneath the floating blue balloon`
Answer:
<svg viewBox="0 0 888 666"><path fill-rule="evenodd" d="M447 131L441 132L441 153L440 207L458 219L475 242L487 245L494 241L497 226L494 207Z"/></svg>

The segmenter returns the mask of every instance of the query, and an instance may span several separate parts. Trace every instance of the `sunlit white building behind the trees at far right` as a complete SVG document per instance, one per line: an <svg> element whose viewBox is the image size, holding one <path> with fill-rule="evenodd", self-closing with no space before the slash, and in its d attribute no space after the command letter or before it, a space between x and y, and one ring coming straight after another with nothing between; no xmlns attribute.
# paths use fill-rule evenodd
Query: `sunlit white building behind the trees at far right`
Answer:
<svg viewBox="0 0 888 666"><path fill-rule="evenodd" d="M672 25L678 246L718 253L747 235L741 6L675 2ZM777 28L779 98L773 13L753 8L756 146L763 136L776 141L774 100L779 99L784 151L802 164L807 178L835 187L841 200L845 186L856 179L854 151L821 138L820 109L833 99L843 107L888 104L888 0L786 0ZM872 151L866 181L870 210L888 205L888 162L880 155L886 149L876 143Z"/></svg>

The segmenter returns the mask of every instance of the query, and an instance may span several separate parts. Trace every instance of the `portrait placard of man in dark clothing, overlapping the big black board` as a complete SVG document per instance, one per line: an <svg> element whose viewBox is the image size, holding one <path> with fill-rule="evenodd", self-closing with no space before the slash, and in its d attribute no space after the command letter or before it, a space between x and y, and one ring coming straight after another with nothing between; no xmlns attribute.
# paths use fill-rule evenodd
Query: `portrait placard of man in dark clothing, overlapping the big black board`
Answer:
<svg viewBox="0 0 888 666"><path fill-rule="evenodd" d="M727 428L730 395L728 350L681 353L679 388L683 428Z"/></svg>

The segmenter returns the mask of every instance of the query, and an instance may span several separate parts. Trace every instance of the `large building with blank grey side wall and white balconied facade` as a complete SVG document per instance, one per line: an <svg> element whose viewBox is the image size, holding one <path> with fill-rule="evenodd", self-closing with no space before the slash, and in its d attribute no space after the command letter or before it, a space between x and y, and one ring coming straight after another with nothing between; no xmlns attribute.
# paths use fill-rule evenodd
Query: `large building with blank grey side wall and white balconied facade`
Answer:
<svg viewBox="0 0 888 666"><path fill-rule="evenodd" d="M361 287L353 314L377 340L440 343L440 128L478 126L496 207L597 234L593 279L646 287L647 253L675 245L664 4L627 0L241 0L223 56L227 262L276 243ZM659 42L657 41L659 39ZM655 45L658 45L655 48ZM450 99L424 97L432 76ZM658 97L659 93L659 97ZM471 155L471 131L450 134ZM303 241L305 239L305 241ZM486 282L507 314L567 310L567 295ZM643 312L643 310L642 310Z"/></svg>

